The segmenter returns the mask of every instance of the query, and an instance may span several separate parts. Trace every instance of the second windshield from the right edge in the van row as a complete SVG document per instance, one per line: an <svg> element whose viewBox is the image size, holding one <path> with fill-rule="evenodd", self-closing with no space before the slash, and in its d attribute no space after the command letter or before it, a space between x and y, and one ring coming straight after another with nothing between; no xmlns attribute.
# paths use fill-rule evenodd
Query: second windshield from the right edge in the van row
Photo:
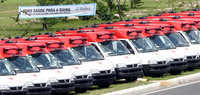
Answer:
<svg viewBox="0 0 200 95"><path fill-rule="evenodd" d="M186 42L186 40L179 33L167 33L166 36L177 47L189 46L189 44Z"/></svg>

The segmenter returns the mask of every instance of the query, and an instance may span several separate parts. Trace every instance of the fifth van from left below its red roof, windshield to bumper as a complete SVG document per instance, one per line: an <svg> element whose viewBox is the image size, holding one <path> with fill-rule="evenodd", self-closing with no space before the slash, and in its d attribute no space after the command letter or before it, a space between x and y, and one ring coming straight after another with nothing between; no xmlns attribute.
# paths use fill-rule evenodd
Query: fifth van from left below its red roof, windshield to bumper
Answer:
<svg viewBox="0 0 200 95"><path fill-rule="evenodd" d="M91 45L86 45L83 47L71 47L70 50L80 60L82 60L81 66L87 70L90 70L92 77L94 78L94 85L98 85L99 87L102 85L109 86L116 79L114 67Z"/></svg>

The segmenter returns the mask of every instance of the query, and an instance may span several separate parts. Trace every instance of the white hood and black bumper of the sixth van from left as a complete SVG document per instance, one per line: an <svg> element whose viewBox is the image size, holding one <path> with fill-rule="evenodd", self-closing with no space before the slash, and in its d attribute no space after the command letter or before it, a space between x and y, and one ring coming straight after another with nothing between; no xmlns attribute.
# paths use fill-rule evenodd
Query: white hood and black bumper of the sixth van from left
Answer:
<svg viewBox="0 0 200 95"><path fill-rule="evenodd" d="M141 60L137 58L135 55L132 55L127 48L119 41L110 41L110 43L113 43L113 48L119 50L119 47L117 44L121 44L121 46L124 47L126 50L126 54L116 54L112 55L109 51L105 51L102 46L100 46L101 42L90 42L98 51L103 55L103 57L108 60L110 63L112 63L113 67L116 71L116 77L117 79L126 79L129 78L136 78L141 74L142 72L142 66L141 66ZM103 42L102 42L103 43ZM120 72L120 73L119 73Z"/></svg>

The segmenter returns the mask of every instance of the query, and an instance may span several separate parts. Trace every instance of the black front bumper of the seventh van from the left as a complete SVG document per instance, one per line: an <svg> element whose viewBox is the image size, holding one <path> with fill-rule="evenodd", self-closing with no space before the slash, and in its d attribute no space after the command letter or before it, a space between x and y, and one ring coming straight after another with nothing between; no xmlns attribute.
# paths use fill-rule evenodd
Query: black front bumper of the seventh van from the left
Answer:
<svg viewBox="0 0 200 95"><path fill-rule="evenodd" d="M169 64L144 64L142 66L145 75L165 74L170 71Z"/></svg>

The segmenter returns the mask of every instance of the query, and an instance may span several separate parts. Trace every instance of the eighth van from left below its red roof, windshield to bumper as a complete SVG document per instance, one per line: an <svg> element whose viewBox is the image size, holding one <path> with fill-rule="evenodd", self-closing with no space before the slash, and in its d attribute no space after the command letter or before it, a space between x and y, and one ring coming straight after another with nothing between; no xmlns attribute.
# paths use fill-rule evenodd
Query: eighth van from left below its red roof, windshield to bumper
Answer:
<svg viewBox="0 0 200 95"><path fill-rule="evenodd" d="M182 70L188 67L187 57L184 52L180 49L176 49L176 46L165 35L154 35L148 38L154 42L161 54L173 59L173 62L169 63L171 74L180 74Z"/></svg>

